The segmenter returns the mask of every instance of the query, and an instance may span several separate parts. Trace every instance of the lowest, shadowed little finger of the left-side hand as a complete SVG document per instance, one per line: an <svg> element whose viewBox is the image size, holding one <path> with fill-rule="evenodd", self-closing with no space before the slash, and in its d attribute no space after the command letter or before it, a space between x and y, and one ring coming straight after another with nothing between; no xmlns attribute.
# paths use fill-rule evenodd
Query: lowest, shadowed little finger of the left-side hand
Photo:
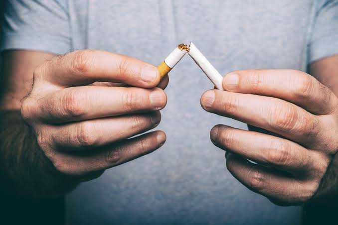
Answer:
<svg viewBox="0 0 338 225"><path fill-rule="evenodd" d="M62 173L83 176L149 154L161 147L165 141L166 134L163 131L154 131L92 151L73 154L58 152L54 155L53 164Z"/></svg>

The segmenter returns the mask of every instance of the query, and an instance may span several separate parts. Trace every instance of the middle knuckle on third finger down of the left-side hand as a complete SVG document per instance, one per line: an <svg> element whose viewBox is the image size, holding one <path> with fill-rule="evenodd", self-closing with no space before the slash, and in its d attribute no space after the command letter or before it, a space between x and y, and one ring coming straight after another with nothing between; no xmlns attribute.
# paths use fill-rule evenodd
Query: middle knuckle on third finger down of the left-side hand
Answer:
<svg viewBox="0 0 338 225"><path fill-rule="evenodd" d="M93 135L94 133L95 127L92 123L86 121L81 122L77 126L75 141L82 147L95 146L98 143L98 139Z"/></svg>

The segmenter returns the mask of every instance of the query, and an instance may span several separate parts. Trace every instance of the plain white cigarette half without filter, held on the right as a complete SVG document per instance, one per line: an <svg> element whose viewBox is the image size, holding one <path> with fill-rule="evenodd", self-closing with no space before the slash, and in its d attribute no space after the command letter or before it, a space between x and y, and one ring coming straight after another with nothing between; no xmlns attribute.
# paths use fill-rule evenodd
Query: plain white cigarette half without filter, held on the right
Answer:
<svg viewBox="0 0 338 225"><path fill-rule="evenodd" d="M198 48L190 42L189 44L190 57L195 61L195 63L202 69L205 75L210 79L210 81L215 85L218 90L223 91L222 80L223 77L218 73L218 71L211 65L211 63L205 58L205 56L198 50Z"/></svg>

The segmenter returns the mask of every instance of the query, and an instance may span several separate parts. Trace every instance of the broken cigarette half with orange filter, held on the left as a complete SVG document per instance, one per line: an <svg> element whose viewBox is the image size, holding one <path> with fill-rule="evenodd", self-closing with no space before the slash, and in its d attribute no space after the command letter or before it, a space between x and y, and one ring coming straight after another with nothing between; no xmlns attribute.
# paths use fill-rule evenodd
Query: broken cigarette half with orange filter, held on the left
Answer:
<svg viewBox="0 0 338 225"><path fill-rule="evenodd" d="M160 71L161 79L169 73L188 51L189 47L182 43L169 54L169 56L157 67Z"/></svg>

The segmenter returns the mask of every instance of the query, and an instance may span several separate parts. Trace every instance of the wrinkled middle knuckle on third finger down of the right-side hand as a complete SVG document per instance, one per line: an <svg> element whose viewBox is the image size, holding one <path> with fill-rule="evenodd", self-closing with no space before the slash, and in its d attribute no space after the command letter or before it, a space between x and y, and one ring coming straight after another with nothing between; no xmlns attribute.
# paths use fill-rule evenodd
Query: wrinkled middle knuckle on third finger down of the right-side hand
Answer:
<svg viewBox="0 0 338 225"><path fill-rule="evenodd" d="M290 161L290 149L285 141L272 141L267 151L267 161L276 165L287 165Z"/></svg>

